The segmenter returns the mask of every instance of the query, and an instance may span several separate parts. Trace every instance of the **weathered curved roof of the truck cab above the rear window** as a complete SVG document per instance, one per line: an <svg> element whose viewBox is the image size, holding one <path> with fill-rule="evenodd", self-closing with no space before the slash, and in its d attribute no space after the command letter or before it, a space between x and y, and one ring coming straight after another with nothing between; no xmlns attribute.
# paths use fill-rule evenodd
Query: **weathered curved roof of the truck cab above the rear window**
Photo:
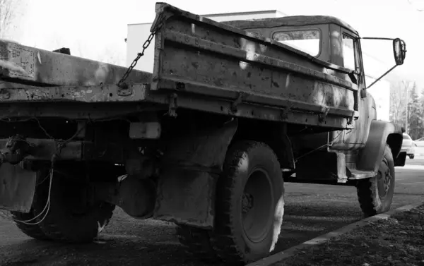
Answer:
<svg viewBox="0 0 424 266"><path fill-rule="evenodd" d="M343 28L351 30L356 35L358 32L348 23L333 16L285 16L281 18L260 18L252 20L229 20L222 21L226 25L230 25L241 30L252 28L273 28L282 26L305 26L333 23Z"/></svg>

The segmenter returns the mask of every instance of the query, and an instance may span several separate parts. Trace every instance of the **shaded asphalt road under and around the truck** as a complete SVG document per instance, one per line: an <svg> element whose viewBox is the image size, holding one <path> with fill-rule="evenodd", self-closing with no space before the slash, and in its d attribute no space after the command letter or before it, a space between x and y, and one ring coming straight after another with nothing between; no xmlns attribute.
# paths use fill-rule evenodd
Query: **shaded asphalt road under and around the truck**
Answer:
<svg viewBox="0 0 424 266"><path fill-rule="evenodd" d="M355 188L285 184L285 222L276 252L362 219ZM396 167L392 208L424 201L424 157ZM69 246L35 241L0 216L0 265L210 265L184 253L174 226L139 221L117 209L95 243Z"/></svg>

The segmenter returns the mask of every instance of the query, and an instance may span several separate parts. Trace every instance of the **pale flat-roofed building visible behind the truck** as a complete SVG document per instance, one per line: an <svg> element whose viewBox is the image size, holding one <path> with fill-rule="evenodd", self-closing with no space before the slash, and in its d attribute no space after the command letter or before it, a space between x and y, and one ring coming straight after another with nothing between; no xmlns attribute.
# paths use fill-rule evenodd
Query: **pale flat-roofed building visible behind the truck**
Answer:
<svg viewBox="0 0 424 266"><path fill-rule="evenodd" d="M245 19L258 19L258 18L278 18L288 16L277 10L270 11L253 11L253 12L240 12L240 13L218 13L203 15L206 18L210 18L220 21L228 20L245 20ZM152 23L139 23L128 25L128 35L126 38L126 64L129 66L137 53L141 52L143 43L150 34ZM154 43L154 41L153 41ZM146 49L144 56L139 60L136 65L136 69L141 71L153 72L153 50L154 45L151 45ZM391 56L391 54L389 55ZM370 85L376 78L386 72L391 66L385 64L379 59L368 54L363 54L363 61L365 67L365 73L367 74L365 82ZM372 85L369 90L372 97L375 98L377 105L377 119L389 121L389 106L390 106L390 82L383 78L379 80L375 85Z"/></svg>

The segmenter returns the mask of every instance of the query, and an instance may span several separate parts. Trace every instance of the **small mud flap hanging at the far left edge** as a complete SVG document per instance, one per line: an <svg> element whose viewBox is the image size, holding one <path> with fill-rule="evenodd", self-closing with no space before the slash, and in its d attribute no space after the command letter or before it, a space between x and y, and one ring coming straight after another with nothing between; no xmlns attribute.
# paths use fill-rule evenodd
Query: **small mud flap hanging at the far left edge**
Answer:
<svg viewBox="0 0 424 266"><path fill-rule="evenodd" d="M35 193L37 172L18 164L0 166L0 209L30 212Z"/></svg>

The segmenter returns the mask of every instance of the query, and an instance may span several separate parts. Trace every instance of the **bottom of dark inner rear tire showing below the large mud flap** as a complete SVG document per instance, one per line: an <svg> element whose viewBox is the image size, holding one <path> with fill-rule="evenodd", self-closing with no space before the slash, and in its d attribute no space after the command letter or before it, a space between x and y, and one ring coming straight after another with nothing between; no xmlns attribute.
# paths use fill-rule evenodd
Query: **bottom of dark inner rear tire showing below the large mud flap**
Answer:
<svg viewBox="0 0 424 266"><path fill-rule="evenodd" d="M216 252L211 245L211 231L182 224L177 224L176 231L179 243L188 253L206 262L218 262Z"/></svg>

